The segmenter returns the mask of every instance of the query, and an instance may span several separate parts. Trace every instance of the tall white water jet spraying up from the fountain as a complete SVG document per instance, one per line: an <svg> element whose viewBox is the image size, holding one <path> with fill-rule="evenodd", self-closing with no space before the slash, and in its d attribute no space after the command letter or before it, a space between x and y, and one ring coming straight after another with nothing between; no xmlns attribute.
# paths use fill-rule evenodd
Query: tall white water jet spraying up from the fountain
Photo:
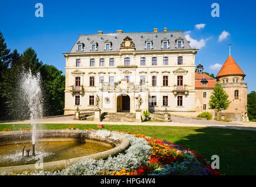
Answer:
<svg viewBox="0 0 256 187"><path fill-rule="evenodd" d="M32 155L35 156L35 143L36 143L36 119L42 117L42 89L41 89L41 76L39 73L32 75L31 70L23 72L21 78L21 91L23 99L28 105L29 115L32 126Z"/></svg>

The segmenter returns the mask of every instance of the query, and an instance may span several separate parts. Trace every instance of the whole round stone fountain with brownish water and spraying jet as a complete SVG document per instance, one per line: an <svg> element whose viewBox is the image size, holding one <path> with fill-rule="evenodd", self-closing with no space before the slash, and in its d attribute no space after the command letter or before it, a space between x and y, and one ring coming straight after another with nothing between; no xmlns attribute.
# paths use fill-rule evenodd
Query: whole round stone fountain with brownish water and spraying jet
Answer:
<svg viewBox="0 0 256 187"><path fill-rule="evenodd" d="M32 75L31 71L23 73L20 86L32 130L0 132L0 174L38 169L55 171L85 158L105 159L129 147L126 137L102 137L93 130L36 129L36 119L43 113L41 77ZM37 168L41 160L43 168Z"/></svg>

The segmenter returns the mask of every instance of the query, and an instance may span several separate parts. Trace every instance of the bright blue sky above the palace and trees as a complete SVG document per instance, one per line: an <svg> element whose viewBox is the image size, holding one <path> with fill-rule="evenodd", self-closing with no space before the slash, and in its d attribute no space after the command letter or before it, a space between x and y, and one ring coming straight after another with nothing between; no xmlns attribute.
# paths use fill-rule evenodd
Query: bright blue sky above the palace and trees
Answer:
<svg viewBox="0 0 256 187"><path fill-rule="evenodd" d="M43 4L36 18L35 4ZM211 16L211 4L220 5L220 17ZM36 50L39 60L65 72L65 58L78 34L151 32L153 28L184 30L194 47L196 64L218 73L231 55L247 75L248 92L256 90L256 1L1 1L0 30L11 50ZM202 24L202 25L198 25ZM198 27L196 27L198 25ZM224 32L225 31L225 32ZM223 40L220 34L226 33Z"/></svg>

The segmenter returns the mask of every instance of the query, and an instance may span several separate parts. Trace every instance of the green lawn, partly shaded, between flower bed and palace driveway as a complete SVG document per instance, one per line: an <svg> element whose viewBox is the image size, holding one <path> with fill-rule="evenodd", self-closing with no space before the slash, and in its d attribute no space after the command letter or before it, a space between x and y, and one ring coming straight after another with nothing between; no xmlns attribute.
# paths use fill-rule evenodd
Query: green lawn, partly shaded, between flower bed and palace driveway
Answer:
<svg viewBox="0 0 256 187"><path fill-rule="evenodd" d="M38 129L62 129L75 126L78 129L98 129L96 124L38 124ZM217 129L210 127L169 127L104 125L107 130L123 130L166 139L175 144L203 154L208 161L212 155L220 157L220 172L225 175L256 175L256 131ZM0 124L19 130L30 124Z"/></svg>

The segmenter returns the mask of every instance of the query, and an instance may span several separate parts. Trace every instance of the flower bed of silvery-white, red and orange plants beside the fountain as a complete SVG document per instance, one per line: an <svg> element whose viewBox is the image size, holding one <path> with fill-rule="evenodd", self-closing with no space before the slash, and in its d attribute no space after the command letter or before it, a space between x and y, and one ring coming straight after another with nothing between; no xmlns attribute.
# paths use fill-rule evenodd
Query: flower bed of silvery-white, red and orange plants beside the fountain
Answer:
<svg viewBox="0 0 256 187"><path fill-rule="evenodd" d="M62 171L39 171L28 175L220 175L211 169L210 162L203 155L186 150L182 145L137 133L96 131L96 135L102 138L112 137L112 134L129 139L130 147L124 153L106 160L82 160Z"/></svg>

